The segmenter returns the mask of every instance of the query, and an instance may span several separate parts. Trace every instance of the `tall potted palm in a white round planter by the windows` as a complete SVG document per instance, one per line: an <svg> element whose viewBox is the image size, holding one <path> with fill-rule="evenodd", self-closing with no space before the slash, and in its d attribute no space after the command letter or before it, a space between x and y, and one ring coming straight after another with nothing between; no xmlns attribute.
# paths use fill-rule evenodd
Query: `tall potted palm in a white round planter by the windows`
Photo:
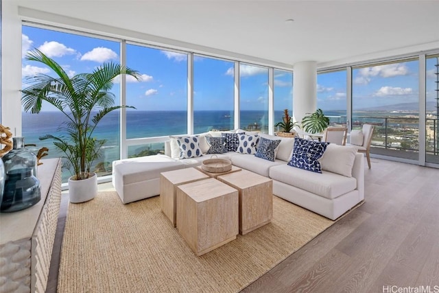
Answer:
<svg viewBox="0 0 439 293"><path fill-rule="evenodd" d="M69 78L57 62L38 49L30 51L26 60L40 62L54 71L55 77L43 73L25 77L27 87L22 92L24 110L40 113L43 102L48 102L66 117L59 127L61 134L46 134L43 139L54 140L54 145L64 155L63 167L71 170L69 199L85 202L97 194L97 174L91 172L93 161L99 158L105 140L93 137L101 119L112 110L134 108L115 106L114 94L110 92L113 80L121 74L132 75L140 80L137 71L108 62L95 68L92 73L80 73Z"/></svg>

